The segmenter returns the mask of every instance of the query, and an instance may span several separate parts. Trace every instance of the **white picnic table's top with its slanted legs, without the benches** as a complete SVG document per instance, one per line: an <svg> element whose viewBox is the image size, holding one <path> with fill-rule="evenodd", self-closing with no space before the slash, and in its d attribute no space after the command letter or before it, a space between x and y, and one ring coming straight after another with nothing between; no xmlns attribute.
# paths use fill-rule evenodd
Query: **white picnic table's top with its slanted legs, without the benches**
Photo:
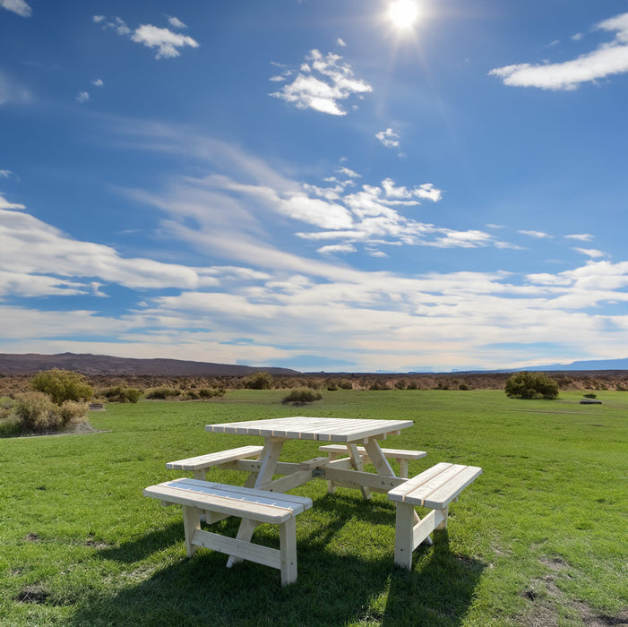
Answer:
<svg viewBox="0 0 628 627"><path fill-rule="evenodd" d="M286 492L298 485L304 485L314 477L322 477L333 481L335 485L359 489L365 498L369 498L371 490L387 493L405 481L395 476L380 448L379 440L391 434L399 434L401 429L413 424L411 420L297 416L206 425L205 429L214 434L257 435L264 438L258 460L234 460L225 465L248 471L250 475L245 483L247 487ZM349 457L342 460L319 457L298 463L280 462L281 449L288 440L343 443L347 446ZM364 471L357 444L363 445L368 452L375 467L374 473ZM273 475L283 477L273 481ZM237 539L250 542L254 528L254 522L242 520ZM228 566L237 561L238 558L232 555Z"/></svg>

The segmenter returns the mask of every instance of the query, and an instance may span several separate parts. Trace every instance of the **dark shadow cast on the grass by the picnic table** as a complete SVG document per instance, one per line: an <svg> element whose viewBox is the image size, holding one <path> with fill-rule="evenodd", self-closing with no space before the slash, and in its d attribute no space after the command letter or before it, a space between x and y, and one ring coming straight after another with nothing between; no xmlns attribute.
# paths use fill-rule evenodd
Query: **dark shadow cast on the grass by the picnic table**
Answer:
<svg viewBox="0 0 628 627"><path fill-rule="evenodd" d="M339 549L343 528L360 520L362 528L391 528L388 502L362 502L339 494L317 499L314 510L325 524L297 520L298 580L281 588L280 573L254 563L225 568L227 556L200 550L192 559L165 563L149 579L130 580L115 594L86 598L73 625L456 625L469 610L484 565L460 559L446 532L434 546L415 551L413 571L393 563L387 538L366 554ZM299 524L302 527L299 529ZM237 520L213 528L234 536ZM277 528L258 528L255 541L277 546ZM390 534L387 534L389 536ZM138 563L152 552L182 543L183 524L173 524L136 542L100 552L103 559ZM361 538L356 540L356 545ZM350 543L349 543L350 544ZM389 545L390 544L390 550ZM333 547L331 546L333 545ZM342 545L342 543L340 543ZM142 569L142 563L138 564Z"/></svg>

